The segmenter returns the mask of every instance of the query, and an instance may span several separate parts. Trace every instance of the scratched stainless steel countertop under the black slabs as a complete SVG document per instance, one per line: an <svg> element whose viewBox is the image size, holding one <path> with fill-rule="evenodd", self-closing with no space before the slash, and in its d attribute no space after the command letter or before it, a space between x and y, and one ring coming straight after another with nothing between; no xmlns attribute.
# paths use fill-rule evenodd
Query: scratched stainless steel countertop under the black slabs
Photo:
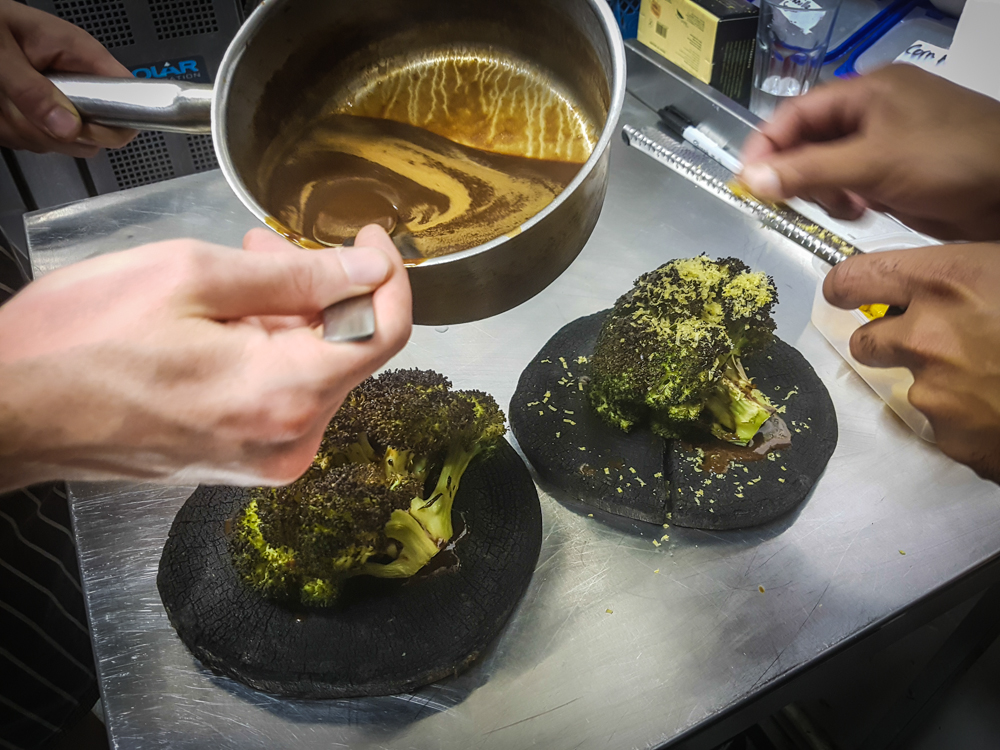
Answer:
<svg viewBox="0 0 1000 750"><path fill-rule="evenodd" d="M623 122L652 120L629 96ZM45 272L168 237L238 246L254 224L212 172L36 214L28 235ZM543 492L531 587L469 672L414 695L300 702L213 676L170 627L156 568L190 488L73 485L114 747L656 747L995 557L1000 488L916 438L813 328L817 262L617 139L603 215L573 266L504 315L415 330L392 364L507 404L556 329L611 305L639 273L702 252L773 274L778 333L833 397L840 443L800 510L744 532L671 528L657 548L663 529L588 518Z"/></svg>

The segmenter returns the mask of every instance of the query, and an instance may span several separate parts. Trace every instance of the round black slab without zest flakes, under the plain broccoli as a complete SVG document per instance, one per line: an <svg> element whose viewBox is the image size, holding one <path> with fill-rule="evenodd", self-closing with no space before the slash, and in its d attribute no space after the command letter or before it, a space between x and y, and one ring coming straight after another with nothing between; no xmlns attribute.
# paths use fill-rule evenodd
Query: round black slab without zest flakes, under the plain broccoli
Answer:
<svg viewBox="0 0 1000 750"><path fill-rule="evenodd" d="M157 586L202 664L287 697L390 695L465 669L513 612L541 547L534 483L501 441L462 477L454 512L467 533L457 570L405 583L358 578L363 595L345 606L286 607L233 569L225 522L247 500L240 488L199 487L174 519Z"/></svg>

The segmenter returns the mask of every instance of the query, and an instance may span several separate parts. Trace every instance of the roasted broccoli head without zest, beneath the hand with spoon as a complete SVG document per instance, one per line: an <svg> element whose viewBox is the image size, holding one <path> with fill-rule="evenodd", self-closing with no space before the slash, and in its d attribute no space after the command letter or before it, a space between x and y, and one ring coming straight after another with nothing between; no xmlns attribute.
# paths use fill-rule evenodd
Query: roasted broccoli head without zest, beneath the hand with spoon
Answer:
<svg viewBox="0 0 1000 750"><path fill-rule="evenodd" d="M231 544L237 570L267 596L310 605L334 602L353 576L413 575L452 537L462 474L505 432L491 396L438 373L367 379L301 478L252 491Z"/></svg>

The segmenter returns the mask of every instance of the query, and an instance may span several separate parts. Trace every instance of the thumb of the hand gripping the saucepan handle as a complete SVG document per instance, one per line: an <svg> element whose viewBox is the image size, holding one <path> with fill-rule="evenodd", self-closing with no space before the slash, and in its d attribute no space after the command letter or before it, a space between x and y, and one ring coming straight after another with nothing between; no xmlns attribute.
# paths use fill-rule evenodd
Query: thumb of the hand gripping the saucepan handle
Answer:
<svg viewBox="0 0 1000 750"><path fill-rule="evenodd" d="M76 108L35 70L6 27L0 27L0 59L4 68L0 76L0 92L35 127L58 141L75 141L83 127Z"/></svg>

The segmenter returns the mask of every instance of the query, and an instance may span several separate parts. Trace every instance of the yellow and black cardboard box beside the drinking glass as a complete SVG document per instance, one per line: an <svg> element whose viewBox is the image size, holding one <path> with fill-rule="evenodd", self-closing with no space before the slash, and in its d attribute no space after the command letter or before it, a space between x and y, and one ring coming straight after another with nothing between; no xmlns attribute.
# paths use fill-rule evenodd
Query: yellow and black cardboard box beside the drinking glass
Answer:
<svg viewBox="0 0 1000 750"><path fill-rule="evenodd" d="M750 101L758 10L747 0L642 0L640 42L695 78Z"/></svg>

